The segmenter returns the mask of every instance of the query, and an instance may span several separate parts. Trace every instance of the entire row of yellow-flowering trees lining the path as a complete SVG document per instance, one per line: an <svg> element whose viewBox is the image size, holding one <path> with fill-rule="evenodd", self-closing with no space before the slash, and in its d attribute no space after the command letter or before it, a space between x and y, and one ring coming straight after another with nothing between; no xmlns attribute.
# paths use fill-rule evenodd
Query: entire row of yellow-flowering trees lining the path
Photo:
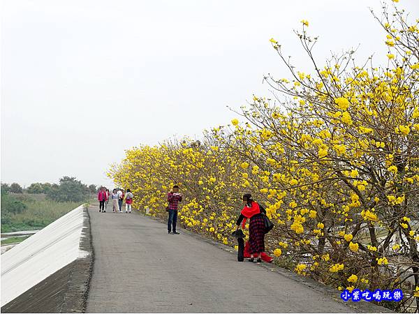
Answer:
<svg viewBox="0 0 419 314"><path fill-rule="evenodd" d="M374 14L374 13L373 13ZM230 233L250 192L275 223L267 250L277 262L339 290L396 289L399 311L419 309L419 21L394 7L376 17L388 65L355 66L353 52L320 66L316 38L296 32L311 73L289 62L288 79L265 77L274 100L254 96L242 122L203 140L128 150L110 170L137 207L165 216L179 184L184 227L234 245Z"/></svg>

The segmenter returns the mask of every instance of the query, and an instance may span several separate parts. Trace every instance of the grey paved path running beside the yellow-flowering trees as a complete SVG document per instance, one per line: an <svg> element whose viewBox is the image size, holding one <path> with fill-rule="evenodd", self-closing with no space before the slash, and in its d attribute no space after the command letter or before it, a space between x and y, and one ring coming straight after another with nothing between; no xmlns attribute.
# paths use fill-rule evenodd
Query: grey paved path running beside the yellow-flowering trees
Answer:
<svg viewBox="0 0 419 314"><path fill-rule="evenodd" d="M152 218L89 213L95 262L87 313L352 311L182 230L168 234Z"/></svg>

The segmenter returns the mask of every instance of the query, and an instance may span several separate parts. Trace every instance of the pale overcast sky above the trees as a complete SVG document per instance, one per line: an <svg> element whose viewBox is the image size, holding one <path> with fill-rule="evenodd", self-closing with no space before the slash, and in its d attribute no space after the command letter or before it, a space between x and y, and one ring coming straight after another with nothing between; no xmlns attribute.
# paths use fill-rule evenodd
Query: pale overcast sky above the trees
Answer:
<svg viewBox="0 0 419 314"><path fill-rule="evenodd" d="M390 3L390 1L386 1ZM399 6L418 17L419 1ZM385 63L378 0L1 1L1 181L86 184L124 150L228 124L263 75L288 77L275 38L306 71L293 29L309 20L319 63L357 47ZM384 56L384 58L382 57Z"/></svg>

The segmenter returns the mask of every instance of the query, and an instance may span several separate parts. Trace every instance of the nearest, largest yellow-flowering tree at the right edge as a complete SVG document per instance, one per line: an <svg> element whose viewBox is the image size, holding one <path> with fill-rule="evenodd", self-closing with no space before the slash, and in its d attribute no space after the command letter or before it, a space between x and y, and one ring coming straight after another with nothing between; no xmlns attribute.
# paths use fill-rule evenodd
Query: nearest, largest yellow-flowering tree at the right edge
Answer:
<svg viewBox="0 0 419 314"><path fill-rule="evenodd" d="M260 170L248 180L277 220L274 235L288 243L295 263L311 264L311 276L345 287L343 271L364 279L355 287L413 291L419 283L418 20L407 24L397 8L376 18L387 33L385 68L356 66L353 51L320 66L312 53L317 40L303 28L297 36L313 65L306 74L271 40L291 78L265 77L275 100L255 96L237 112L246 123L235 125L230 149ZM318 262L325 253L328 261ZM345 267L330 268L339 263Z"/></svg>

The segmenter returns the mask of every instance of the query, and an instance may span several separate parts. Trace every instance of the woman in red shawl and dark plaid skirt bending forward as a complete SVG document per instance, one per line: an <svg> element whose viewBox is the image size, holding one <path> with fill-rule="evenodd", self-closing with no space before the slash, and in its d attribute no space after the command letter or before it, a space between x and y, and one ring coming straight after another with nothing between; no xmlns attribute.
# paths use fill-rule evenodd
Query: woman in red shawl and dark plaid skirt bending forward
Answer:
<svg viewBox="0 0 419 314"><path fill-rule="evenodd" d="M265 221L263 220L263 214L266 214L266 211L252 199L251 194L249 193L243 195L243 204L244 207L236 222L236 230L239 230L240 223L242 223L242 227L244 228L246 220L250 219L249 262L254 262L255 255L258 255L257 262L262 262L260 254L265 251Z"/></svg>

